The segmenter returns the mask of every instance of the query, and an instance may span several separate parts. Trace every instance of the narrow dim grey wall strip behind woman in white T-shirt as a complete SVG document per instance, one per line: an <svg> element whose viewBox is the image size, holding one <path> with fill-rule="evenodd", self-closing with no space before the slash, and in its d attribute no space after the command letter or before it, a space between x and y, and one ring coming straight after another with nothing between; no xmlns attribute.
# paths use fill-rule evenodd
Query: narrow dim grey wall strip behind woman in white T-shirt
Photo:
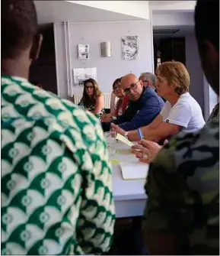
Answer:
<svg viewBox="0 0 220 256"><path fill-rule="evenodd" d="M204 114L204 76L194 34L187 35L186 37L186 66L190 73L190 94L199 102Z"/></svg>

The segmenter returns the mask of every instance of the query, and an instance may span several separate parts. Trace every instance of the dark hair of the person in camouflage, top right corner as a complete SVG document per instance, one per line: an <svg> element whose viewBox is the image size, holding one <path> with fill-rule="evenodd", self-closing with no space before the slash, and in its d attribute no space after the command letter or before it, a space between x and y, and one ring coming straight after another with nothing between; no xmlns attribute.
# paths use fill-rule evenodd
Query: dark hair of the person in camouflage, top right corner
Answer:
<svg viewBox="0 0 220 256"><path fill-rule="evenodd" d="M211 41L219 51L219 0L198 0L195 9L198 43Z"/></svg>

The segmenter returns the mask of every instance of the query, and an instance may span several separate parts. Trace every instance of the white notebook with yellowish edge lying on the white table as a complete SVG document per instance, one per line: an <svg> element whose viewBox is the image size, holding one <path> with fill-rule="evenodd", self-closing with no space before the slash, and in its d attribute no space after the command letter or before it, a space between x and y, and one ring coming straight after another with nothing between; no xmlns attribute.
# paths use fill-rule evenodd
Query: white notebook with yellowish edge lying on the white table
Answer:
<svg viewBox="0 0 220 256"><path fill-rule="evenodd" d="M121 162L123 180L141 180L148 175L149 164Z"/></svg>

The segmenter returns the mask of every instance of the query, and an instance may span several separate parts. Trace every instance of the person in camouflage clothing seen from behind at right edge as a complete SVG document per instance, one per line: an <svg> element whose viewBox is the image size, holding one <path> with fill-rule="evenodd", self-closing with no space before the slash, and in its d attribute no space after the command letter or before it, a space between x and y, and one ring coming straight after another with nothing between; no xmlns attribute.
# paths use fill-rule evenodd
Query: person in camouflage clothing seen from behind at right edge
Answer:
<svg viewBox="0 0 220 256"><path fill-rule="evenodd" d="M202 68L219 95L219 2L199 0ZM142 229L149 254L219 254L219 123L180 133L153 160Z"/></svg>

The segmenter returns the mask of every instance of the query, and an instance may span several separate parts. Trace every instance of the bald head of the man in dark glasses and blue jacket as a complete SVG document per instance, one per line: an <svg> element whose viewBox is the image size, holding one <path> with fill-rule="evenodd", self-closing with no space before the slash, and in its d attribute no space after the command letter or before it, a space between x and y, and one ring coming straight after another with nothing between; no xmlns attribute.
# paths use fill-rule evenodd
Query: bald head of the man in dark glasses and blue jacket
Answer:
<svg viewBox="0 0 220 256"><path fill-rule="evenodd" d="M139 81L138 77L129 73L121 79L121 86L132 101L137 101L143 92L142 81Z"/></svg>

